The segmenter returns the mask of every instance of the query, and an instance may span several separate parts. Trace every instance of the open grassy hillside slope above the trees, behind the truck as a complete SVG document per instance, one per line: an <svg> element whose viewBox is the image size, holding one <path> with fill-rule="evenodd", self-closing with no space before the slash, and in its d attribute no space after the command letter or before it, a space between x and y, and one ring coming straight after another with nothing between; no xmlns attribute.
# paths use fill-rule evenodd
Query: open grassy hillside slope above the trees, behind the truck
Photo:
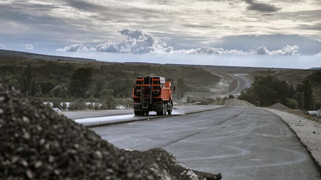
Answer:
<svg viewBox="0 0 321 180"><path fill-rule="evenodd" d="M206 88L213 86L220 80L219 76L194 67L135 65L102 61L42 60L21 56L0 55L0 83L19 84L28 64L32 66L33 82L41 86L43 97L48 97L47 93L54 87L61 84L67 84L68 86L71 80L71 73L80 67L93 69L94 81L101 79L104 84L109 84L112 81L115 82L115 80L121 81L121 79L134 80L137 76L157 75L173 79L174 82L179 78L183 78L192 92L208 92ZM129 89L132 85L133 83L126 84ZM130 95L131 92L127 96Z"/></svg>

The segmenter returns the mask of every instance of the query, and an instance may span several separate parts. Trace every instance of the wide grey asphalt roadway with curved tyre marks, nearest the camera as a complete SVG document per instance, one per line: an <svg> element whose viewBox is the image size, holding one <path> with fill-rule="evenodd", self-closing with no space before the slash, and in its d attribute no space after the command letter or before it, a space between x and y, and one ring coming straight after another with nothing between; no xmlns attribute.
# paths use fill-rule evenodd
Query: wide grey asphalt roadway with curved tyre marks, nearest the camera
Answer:
<svg viewBox="0 0 321 180"><path fill-rule="evenodd" d="M320 180L312 158L275 114L228 107L92 128L120 148L164 148L183 165L223 180Z"/></svg>

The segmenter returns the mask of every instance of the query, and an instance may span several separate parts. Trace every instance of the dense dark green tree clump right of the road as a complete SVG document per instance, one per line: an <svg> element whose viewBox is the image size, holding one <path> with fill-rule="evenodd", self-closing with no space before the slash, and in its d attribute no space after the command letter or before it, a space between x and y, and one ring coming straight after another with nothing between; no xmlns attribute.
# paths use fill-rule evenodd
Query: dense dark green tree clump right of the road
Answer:
<svg viewBox="0 0 321 180"><path fill-rule="evenodd" d="M285 80L278 79L275 75L256 76L251 87L242 90L240 100L268 107L275 103L281 103L292 109L313 109L321 107L321 102L313 97L313 84L320 84L321 71L316 71L301 80L301 83L289 85Z"/></svg>

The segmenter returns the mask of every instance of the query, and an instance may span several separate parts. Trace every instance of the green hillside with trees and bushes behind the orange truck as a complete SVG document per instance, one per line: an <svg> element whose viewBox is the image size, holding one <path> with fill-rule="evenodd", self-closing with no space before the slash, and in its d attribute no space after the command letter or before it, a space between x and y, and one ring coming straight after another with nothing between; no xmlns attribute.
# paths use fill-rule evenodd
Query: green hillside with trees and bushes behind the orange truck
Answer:
<svg viewBox="0 0 321 180"><path fill-rule="evenodd" d="M207 92L203 87L220 79L193 67L0 56L0 83L62 109L67 102L70 102L69 109L78 110L131 107L135 78L142 75L159 75L172 81L176 86L176 99L183 98L186 92Z"/></svg>

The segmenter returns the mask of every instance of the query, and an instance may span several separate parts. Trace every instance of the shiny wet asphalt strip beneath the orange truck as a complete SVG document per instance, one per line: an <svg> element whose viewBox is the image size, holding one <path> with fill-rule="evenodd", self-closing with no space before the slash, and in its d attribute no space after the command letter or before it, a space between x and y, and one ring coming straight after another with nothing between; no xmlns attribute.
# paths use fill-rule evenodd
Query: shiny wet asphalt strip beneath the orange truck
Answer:
<svg viewBox="0 0 321 180"><path fill-rule="evenodd" d="M173 109L172 115L186 114L192 112L199 112L204 110L211 110L223 108L225 106L219 105L194 105L194 106L179 106ZM104 110L104 111L67 111L62 112L68 118L84 126L100 126L105 124L123 123L143 119L153 119L162 116L156 115L156 112L150 112L149 116L135 116L134 110ZM168 116L168 115L167 115Z"/></svg>

